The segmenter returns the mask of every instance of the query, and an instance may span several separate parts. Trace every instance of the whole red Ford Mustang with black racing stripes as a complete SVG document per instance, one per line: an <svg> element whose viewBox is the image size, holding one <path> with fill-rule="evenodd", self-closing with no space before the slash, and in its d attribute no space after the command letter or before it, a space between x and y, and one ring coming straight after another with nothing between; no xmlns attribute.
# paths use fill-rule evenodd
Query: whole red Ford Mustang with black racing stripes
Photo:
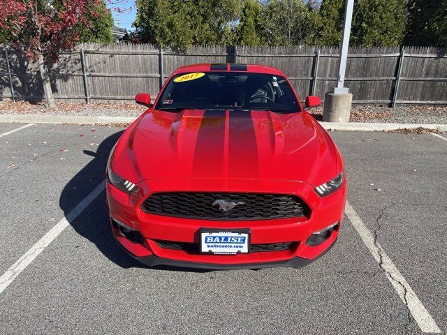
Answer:
<svg viewBox="0 0 447 335"><path fill-rule="evenodd" d="M342 156L284 73L244 64L175 70L107 166L112 231L146 265L302 267L335 243ZM320 105L309 96L307 107Z"/></svg>

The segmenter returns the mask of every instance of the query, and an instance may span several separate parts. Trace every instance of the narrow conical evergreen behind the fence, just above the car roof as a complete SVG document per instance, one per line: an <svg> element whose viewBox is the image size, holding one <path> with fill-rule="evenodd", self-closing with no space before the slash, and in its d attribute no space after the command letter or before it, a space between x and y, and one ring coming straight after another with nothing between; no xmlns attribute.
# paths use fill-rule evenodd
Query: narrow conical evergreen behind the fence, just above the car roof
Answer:
<svg viewBox="0 0 447 335"><path fill-rule="evenodd" d="M247 0L242 9L242 15L236 30L237 44L249 45L251 47L261 45L262 29L261 6L258 1Z"/></svg>

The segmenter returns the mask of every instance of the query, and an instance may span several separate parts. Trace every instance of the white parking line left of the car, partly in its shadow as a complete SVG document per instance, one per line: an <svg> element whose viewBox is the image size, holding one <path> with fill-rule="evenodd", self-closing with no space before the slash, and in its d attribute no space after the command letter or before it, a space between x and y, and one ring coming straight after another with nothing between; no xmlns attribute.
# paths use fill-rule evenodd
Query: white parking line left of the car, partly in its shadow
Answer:
<svg viewBox="0 0 447 335"><path fill-rule="evenodd" d="M61 219L53 228L51 228L41 239L39 239L34 246L31 246L24 255L17 260L4 274L0 277L0 294L5 290L10 283L22 272L31 262L45 249L65 228L68 227L71 221L89 205L95 198L104 191L104 181L91 191L87 198L82 200L70 213Z"/></svg>

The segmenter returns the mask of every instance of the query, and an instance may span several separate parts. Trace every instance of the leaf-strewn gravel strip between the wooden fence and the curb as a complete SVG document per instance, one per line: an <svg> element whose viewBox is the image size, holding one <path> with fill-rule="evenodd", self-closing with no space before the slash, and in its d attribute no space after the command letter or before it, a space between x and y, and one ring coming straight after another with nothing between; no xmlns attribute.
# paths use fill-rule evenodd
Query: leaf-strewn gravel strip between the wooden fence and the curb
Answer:
<svg viewBox="0 0 447 335"><path fill-rule="evenodd" d="M0 114L78 115L91 117L138 117L146 107L135 103L56 103L53 110L42 103L24 101L0 102ZM323 119L323 107L309 110L317 120ZM377 105L353 105L351 122L397 124L447 124L447 106L399 106L395 108Z"/></svg>

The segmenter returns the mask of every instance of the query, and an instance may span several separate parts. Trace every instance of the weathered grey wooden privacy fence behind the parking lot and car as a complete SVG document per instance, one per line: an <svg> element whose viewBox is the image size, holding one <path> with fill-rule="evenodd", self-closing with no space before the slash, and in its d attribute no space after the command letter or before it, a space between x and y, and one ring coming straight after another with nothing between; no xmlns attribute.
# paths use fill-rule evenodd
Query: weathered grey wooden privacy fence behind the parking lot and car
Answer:
<svg viewBox="0 0 447 335"><path fill-rule="evenodd" d="M41 101L36 64L3 47L0 98ZM158 94L178 66L194 63L265 64L282 70L301 98L324 97L337 83L338 47L195 46L186 53L155 45L86 43L50 67L59 101L129 101L137 92ZM350 48L345 85L353 103L447 105L447 54L435 47Z"/></svg>

